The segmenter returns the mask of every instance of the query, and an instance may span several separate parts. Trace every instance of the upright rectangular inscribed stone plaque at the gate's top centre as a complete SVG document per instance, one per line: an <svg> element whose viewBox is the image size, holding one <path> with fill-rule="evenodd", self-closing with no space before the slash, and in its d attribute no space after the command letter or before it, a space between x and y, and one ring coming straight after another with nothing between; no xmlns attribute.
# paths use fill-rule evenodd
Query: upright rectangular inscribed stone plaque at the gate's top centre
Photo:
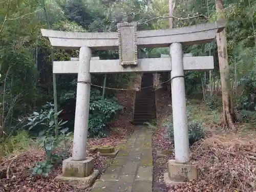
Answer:
<svg viewBox="0 0 256 192"><path fill-rule="evenodd" d="M121 65L137 65L137 23L118 23L119 60Z"/></svg>

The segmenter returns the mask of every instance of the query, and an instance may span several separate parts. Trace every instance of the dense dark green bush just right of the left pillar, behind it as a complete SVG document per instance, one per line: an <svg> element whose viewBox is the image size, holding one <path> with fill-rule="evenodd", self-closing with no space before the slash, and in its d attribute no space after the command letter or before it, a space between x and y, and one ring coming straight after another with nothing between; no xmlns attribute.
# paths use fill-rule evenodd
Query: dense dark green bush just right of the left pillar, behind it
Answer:
<svg viewBox="0 0 256 192"><path fill-rule="evenodd" d="M102 99L99 95L99 91L93 92L91 95L88 121L89 135L91 137L105 136L104 128L108 126L110 121L113 120L121 110L122 106L115 100Z"/></svg>

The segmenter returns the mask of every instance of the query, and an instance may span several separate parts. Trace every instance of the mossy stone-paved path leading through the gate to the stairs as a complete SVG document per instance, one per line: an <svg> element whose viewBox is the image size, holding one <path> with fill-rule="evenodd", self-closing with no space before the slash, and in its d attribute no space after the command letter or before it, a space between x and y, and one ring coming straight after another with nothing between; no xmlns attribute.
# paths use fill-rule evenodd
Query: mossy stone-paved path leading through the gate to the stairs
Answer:
<svg viewBox="0 0 256 192"><path fill-rule="evenodd" d="M95 182L92 192L152 192L152 130L136 126L113 163Z"/></svg>

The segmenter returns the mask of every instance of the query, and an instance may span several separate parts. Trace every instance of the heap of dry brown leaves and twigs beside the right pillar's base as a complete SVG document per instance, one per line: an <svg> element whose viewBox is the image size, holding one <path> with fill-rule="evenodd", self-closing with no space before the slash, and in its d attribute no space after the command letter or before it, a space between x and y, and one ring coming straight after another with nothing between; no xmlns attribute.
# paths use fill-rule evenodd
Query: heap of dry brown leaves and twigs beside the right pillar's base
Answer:
<svg viewBox="0 0 256 192"><path fill-rule="evenodd" d="M171 191L254 191L256 187L256 141L236 135L213 135L191 147L191 163L199 178L176 185Z"/></svg>

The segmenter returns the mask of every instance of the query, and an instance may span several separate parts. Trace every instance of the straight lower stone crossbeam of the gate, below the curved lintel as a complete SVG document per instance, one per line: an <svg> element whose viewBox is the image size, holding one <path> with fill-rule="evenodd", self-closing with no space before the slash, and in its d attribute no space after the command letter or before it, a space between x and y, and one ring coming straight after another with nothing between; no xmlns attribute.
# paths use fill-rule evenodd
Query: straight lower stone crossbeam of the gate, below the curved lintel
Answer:
<svg viewBox="0 0 256 192"><path fill-rule="evenodd" d="M78 60L54 61L53 73L77 74L78 65ZM214 58L212 56L184 56L183 69L185 71L205 71L214 69ZM170 57L138 59L138 66L126 68L120 65L119 59L91 59L90 62L90 73L164 72L171 70L172 65Z"/></svg>

